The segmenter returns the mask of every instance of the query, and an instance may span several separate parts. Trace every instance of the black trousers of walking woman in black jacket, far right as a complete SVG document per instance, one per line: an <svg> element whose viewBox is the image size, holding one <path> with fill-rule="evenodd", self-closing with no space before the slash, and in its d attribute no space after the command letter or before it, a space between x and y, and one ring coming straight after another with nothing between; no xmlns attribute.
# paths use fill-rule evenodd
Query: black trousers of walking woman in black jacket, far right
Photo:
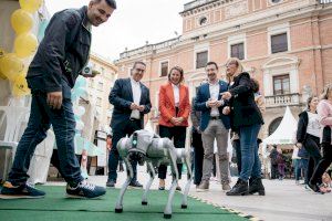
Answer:
<svg viewBox="0 0 332 221"><path fill-rule="evenodd" d="M322 158L320 152L320 138L308 135L303 146L310 156L304 181L308 185L313 175L314 168L318 166Z"/></svg>

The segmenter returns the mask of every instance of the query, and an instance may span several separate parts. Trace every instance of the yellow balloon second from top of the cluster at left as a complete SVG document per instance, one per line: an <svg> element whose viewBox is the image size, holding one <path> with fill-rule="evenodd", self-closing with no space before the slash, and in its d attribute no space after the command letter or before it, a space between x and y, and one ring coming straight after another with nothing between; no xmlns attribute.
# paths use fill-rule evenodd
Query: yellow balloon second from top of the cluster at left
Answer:
<svg viewBox="0 0 332 221"><path fill-rule="evenodd" d="M11 14L11 27L17 34L28 32L33 27L33 19L31 13L23 9L18 9Z"/></svg>

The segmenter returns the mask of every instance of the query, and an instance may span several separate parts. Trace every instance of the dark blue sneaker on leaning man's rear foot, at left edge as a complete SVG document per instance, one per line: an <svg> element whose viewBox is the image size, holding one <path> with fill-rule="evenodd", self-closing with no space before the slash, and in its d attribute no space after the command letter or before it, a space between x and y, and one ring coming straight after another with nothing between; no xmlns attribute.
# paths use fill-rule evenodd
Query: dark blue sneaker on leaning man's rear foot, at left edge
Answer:
<svg viewBox="0 0 332 221"><path fill-rule="evenodd" d="M11 182L4 182L0 192L0 199L22 199L22 198L43 198L45 192L24 183L13 186Z"/></svg>

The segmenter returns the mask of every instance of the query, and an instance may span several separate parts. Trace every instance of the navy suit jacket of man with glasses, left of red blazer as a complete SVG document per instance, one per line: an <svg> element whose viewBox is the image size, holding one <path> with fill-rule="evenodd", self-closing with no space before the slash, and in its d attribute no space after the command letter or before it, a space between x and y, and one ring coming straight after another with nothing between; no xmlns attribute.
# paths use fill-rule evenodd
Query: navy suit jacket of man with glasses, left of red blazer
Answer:
<svg viewBox="0 0 332 221"><path fill-rule="evenodd" d="M139 105L145 105L144 112L141 112L141 127L144 125L144 114L151 110L149 91L141 84L141 102ZM114 105L111 127L113 130L124 127L129 122L132 109L131 104L134 102L131 78L116 80L108 96L110 103Z"/></svg>

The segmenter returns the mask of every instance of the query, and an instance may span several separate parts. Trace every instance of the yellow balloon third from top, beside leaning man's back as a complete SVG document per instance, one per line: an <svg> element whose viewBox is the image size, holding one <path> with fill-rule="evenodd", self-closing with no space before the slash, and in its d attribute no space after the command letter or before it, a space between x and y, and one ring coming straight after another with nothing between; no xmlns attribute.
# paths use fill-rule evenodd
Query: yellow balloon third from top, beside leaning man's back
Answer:
<svg viewBox="0 0 332 221"><path fill-rule="evenodd" d="M14 51L19 57L31 56L38 46L37 36L30 32L22 33L14 41Z"/></svg>

